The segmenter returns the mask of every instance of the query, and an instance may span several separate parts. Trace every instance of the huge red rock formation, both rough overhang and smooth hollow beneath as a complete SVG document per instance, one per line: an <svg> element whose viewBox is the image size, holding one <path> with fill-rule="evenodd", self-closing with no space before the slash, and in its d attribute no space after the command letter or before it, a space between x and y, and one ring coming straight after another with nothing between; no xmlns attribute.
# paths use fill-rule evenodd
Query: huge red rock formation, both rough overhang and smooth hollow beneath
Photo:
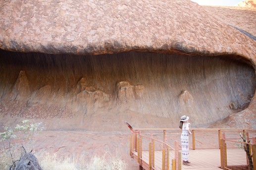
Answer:
<svg viewBox="0 0 256 170"><path fill-rule="evenodd" d="M0 124L256 128L256 41L190 0L6 1L0 24Z"/></svg>

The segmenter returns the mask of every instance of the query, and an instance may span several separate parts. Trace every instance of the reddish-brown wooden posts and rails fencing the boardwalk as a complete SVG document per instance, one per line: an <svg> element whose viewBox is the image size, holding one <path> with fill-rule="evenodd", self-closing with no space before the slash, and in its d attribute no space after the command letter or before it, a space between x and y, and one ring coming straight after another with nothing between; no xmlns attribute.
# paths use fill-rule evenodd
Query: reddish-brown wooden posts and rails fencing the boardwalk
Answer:
<svg viewBox="0 0 256 170"><path fill-rule="evenodd" d="M134 150L134 145L137 148L137 154L138 154L138 162L140 164L140 166L142 167L145 164L145 160L143 160L142 158L142 139L143 138L147 138L150 139L149 142L149 165L148 165L148 169L150 170L155 170L154 168L154 144L152 142L157 141L159 143L163 144L163 149L162 149L162 169L163 170L168 170L169 169L169 152L168 152L168 148L172 149L175 151L175 158L172 159L172 169L175 167L175 170L181 170L181 153L179 151L180 147L177 141L175 141L175 148L172 148L169 144L167 144L166 142L166 134L167 133L180 133L181 130L180 129L141 129L141 128L132 128L130 126L130 124L127 124L128 128L132 131L132 136L135 137L131 137L130 142L132 142L132 144L130 144L131 147L131 155L133 157L133 154L135 152L133 152ZM143 131L151 131L151 132L143 132ZM156 131L156 132L154 132ZM159 132L161 131L161 132ZM172 131L172 132L169 132ZM238 143L245 143L245 142L240 142L240 141L235 141L232 139L239 139L239 138L225 138L225 135L223 132L225 133L229 133L229 132L256 132L256 129L191 129L191 131L193 131L193 135L192 135L192 140L193 140L193 149L195 148L195 136L196 133L205 133L205 132L209 132L209 133L217 133L218 134L218 140L219 140L219 149L221 151L221 167L227 167L227 155L226 155L226 150L227 150L227 146L226 146L226 141L231 141L231 142L238 142ZM147 136L145 134L150 133L150 136ZM163 134L163 141L157 138L153 137L153 133L162 133ZM223 133L223 134L222 134ZM133 135L135 134L135 135ZM143 135L144 134L144 135ZM157 137L159 138L159 136L157 135ZM249 138L249 136L248 136ZM254 142L256 142L256 138L253 137ZM252 143L245 143L245 144L252 144ZM252 148L253 152L256 152L256 148L255 148L255 144L253 144L253 148ZM254 154L254 159L256 159L256 154ZM168 160L168 161L166 161ZM254 163L256 163L256 161L254 161Z"/></svg>

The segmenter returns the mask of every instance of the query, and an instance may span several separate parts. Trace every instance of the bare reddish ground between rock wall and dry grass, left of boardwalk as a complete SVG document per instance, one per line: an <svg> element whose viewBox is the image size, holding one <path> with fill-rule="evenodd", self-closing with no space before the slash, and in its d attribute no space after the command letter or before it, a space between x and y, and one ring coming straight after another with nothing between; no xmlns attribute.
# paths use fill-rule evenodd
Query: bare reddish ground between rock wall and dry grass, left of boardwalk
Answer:
<svg viewBox="0 0 256 170"><path fill-rule="evenodd" d="M56 154L62 158L75 158L88 162L94 156L117 157L127 163L126 170L139 169L138 163L129 155L130 132L67 132L43 131L37 133L26 150ZM80 158L82 160L80 160Z"/></svg>

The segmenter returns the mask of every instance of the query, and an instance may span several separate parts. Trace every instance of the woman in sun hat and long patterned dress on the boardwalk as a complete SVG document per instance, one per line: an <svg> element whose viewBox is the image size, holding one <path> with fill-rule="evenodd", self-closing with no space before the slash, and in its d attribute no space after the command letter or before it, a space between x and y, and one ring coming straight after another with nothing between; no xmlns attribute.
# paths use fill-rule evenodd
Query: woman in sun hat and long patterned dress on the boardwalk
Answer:
<svg viewBox="0 0 256 170"><path fill-rule="evenodd" d="M181 139L181 152L182 152L182 160L183 165L187 165L190 163L189 161L189 134L190 131L190 123L188 123L188 116L181 116L180 118L180 129L182 129L182 133L180 136Z"/></svg>

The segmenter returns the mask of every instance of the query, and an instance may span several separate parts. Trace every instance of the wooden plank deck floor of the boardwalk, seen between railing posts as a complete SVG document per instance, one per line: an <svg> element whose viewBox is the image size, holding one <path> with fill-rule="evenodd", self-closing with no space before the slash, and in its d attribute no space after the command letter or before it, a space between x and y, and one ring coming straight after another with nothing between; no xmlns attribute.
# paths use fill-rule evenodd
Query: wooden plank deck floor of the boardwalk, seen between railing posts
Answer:
<svg viewBox="0 0 256 170"><path fill-rule="evenodd" d="M133 152L134 160L137 160L137 152ZM190 166L182 165L182 170L221 170L220 150L219 149L197 149L190 150ZM174 151L170 151L170 170L171 159L174 158ZM149 151L142 152L143 164L149 164ZM247 165L246 153L243 149L227 149L228 166ZM162 170L162 151L155 151L154 158L155 170Z"/></svg>

